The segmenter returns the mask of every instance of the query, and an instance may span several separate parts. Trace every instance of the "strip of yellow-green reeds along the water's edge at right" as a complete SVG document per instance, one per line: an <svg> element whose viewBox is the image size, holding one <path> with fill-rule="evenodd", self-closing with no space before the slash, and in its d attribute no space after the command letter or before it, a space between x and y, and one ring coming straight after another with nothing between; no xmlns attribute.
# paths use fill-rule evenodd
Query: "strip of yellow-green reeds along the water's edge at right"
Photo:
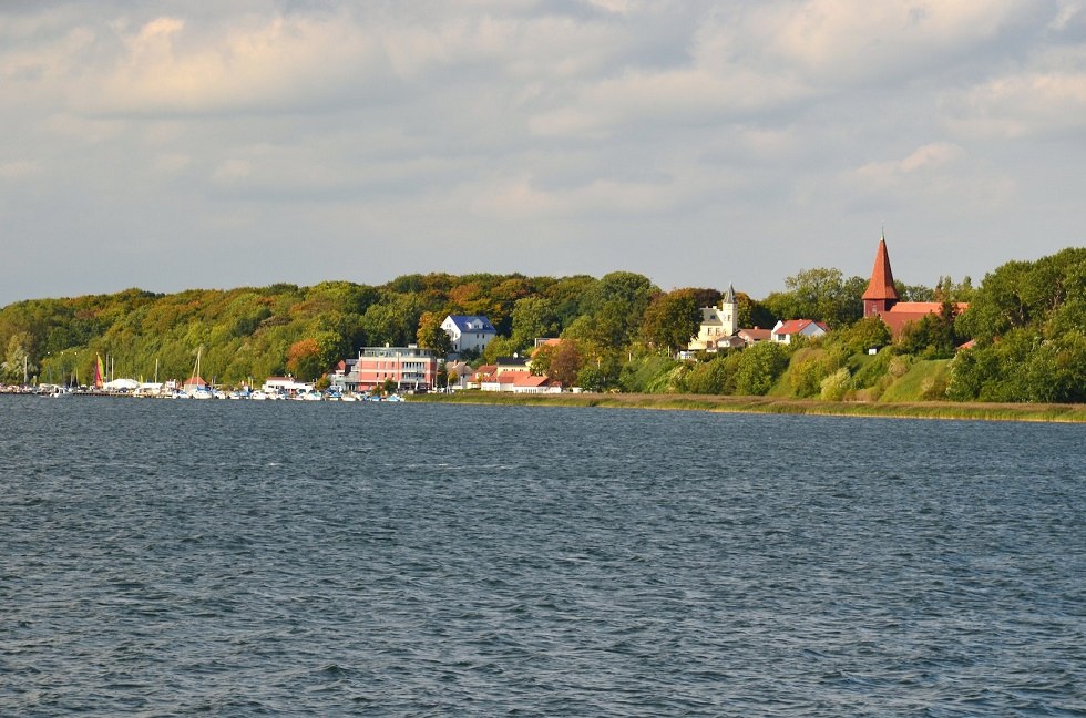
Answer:
<svg viewBox="0 0 1086 718"><path fill-rule="evenodd" d="M730 397L715 394L510 394L479 391L459 392L452 394L413 394L408 396L407 400L413 402L429 401L433 403L586 408L601 407L611 409L713 411L721 413L776 413L818 417L867 417L878 419L942 419L955 421L1086 423L1086 404L957 403L949 401L880 403L860 401L822 401L819 399L777 399L771 397Z"/></svg>

